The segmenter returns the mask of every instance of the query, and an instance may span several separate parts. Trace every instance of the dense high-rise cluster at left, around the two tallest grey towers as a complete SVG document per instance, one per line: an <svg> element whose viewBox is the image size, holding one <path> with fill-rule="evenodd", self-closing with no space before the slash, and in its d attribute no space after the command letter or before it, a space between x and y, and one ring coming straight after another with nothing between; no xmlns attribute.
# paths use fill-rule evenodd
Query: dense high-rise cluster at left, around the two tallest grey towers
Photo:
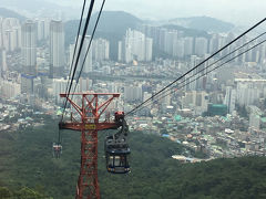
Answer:
<svg viewBox="0 0 266 199"><path fill-rule="evenodd" d="M78 72L85 57L90 40L91 36L86 35ZM69 51L65 49L64 25L60 20L35 19L21 22L14 18L0 18L1 94L7 97L18 94L25 94L24 96L38 94L47 97L52 95L53 90L59 93L65 92L66 82L63 77L72 63L73 52L73 44L70 45ZM110 42L101 38L94 39L84 61L83 73L92 72L93 61L101 62L109 59ZM14 60L16 62L12 62ZM18 78L7 77L11 70L8 62L12 62L11 65L18 64L12 66L19 73ZM82 85L83 88L88 88L89 84L83 81Z"/></svg>

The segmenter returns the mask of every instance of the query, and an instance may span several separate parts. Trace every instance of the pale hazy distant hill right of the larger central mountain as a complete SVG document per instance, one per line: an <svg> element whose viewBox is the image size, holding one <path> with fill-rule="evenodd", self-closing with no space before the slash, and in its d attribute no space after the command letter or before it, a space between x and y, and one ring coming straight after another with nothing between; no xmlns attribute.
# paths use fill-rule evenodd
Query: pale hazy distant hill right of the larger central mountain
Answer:
<svg viewBox="0 0 266 199"><path fill-rule="evenodd" d="M168 23L207 32L228 32L234 28L232 23L209 17L176 18L168 20Z"/></svg>

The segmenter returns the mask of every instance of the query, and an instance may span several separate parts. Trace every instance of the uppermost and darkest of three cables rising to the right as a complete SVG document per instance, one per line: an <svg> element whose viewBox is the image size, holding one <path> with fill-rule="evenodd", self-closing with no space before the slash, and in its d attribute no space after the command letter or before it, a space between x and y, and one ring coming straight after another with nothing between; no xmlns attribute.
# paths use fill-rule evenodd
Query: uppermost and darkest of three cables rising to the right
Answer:
<svg viewBox="0 0 266 199"><path fill-rule="evenodd" d="M166 85L164 88L162 88L161 91L158 91L157 93L155 93L153 96L151 96L150 98L147 98L146 101L144 101L143 103L139 104L137 106L135 106L132 111L130 111L129 113L125 114L129 115L132 112L134 112L135 109L140 108L142 105L144 105L146 102L153 100L156 95L158 95L160 93L164 92L166 88L168 88L170 86L172 86L174 83L176 83L177 81L180 81L181 78L183 78L185 75L190 74L192 71L196 70L200 65L202 65L203 63L207 62L209 59L212 59L213 56L215 56L216 54L218 54L219 52L222 52L224 49L226 49L227 46L229 46L231 44L233 44L234 42L236 42L237 40L239 40L242 36L244 36L245 34L247 34L248 32L250 32L253 29L255 29L256 27L260 25L264 21L266 20L266 18L264 18L263 20L260 20L258 23L256 23L255 25L253 25L252 28L249 28L248 30L246 30L244 33L242 33L241 35L238 35L236 39L234 39L233 41L231 41L229 43L227 43L225 46L223 46L222 49L219 49L218 51L216 51L215 53L213 53L212 55L209 55L207 59L205 59L204 61L202 61L200 64L195 65L194 67L192 67L191 70L188 70L186 73L184 73L182 76L180 76L178 78L176 78L175 81L173 81L172 83L170 83L168 85Z"/></svg>

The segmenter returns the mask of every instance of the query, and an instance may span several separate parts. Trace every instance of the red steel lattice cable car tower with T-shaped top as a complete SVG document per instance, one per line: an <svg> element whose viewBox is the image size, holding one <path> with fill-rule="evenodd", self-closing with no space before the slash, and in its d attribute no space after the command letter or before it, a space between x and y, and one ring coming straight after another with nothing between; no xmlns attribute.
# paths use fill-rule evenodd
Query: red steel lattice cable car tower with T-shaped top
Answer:
<svg viewBox="0 0 266 199"><path fill-rule="evenodd" d="M81 96L81 106L73 102L70 96ZM98 182L98 130L115 129L117 124L105 119L100 122L100 117L106 111L110 103L119 97L119 93L76 93L60 94L78 112L80 118L71 118L59 124L61 129L72 129L81 132L81 168L76 185L76 199L100 198ZM99 97L104 101L99 104Z"/></svg>

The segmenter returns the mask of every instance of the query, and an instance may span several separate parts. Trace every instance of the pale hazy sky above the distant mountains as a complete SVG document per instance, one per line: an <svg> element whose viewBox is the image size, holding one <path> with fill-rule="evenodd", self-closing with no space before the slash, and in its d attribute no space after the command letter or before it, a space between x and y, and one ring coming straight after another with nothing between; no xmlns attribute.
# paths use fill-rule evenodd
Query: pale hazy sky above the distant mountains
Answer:
<svg viewBox="0 0 266 199"><path fill-rule="evenodd" d="M47 1L76 8L83 2ZM142 19L208 15L235 24L250 24L266 17L266 0L106 0L104 9L123 10Z"/></svg>

